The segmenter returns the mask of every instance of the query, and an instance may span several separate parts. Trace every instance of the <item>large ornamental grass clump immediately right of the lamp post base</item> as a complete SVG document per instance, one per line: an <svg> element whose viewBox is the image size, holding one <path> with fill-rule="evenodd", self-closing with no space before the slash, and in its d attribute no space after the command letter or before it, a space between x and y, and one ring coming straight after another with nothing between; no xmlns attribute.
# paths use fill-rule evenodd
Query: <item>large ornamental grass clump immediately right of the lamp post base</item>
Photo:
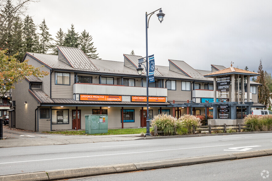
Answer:
<svg viewBox="0 0 272 181"><path fill-rule="evenodd" d="M158 130L163 131L163 135L175 135L175 126L177 125L177 118L171 115L159 114L154 116L151 123L151 130L154 135L154 126L157 126Z"/></svg>

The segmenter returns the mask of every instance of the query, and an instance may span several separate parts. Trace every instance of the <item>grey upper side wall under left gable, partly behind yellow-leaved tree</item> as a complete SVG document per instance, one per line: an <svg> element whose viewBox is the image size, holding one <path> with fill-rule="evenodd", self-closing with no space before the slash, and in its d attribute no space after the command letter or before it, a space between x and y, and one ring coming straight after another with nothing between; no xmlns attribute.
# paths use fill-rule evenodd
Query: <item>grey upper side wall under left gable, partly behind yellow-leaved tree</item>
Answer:
<svg viewBox="0 0 272 181"><path fill-rule="evenodd" d="M29 65L33 65L36 68L42 66L41 63L37 62L35 59L31 58L29 55L27 55L25 59L29 60L27 62ZM39 77L39 79L41 79L41 81L43 81L43 83L42 83L43 92L45 92L45 94L47 94L47 95L50 95L50 86L48 86L48 85L50 85L50 69L43 66L40 68L40 70L47 71L49 73L49 75L44 76L44 77Z"/></svg>

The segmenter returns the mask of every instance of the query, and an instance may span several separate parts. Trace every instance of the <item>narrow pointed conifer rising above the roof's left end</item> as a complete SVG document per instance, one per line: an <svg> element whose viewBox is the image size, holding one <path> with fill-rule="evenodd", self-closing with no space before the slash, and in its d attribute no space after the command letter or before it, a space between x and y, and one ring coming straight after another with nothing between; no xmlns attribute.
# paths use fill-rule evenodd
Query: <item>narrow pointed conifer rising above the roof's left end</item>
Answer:
<svg viewBox="0 0 272 181"><path fill-rule="evenodd" d="M51 41L53 40L53 38L51 38L51 34L49 34L48 30L49 28L47 27L46 23L45 23L45 19L43 18L43 22L40 24L39 26L41 33L39 33L40 35L40 53L42 54L46 54L47 51L52 47L51 45Z"/></svg>

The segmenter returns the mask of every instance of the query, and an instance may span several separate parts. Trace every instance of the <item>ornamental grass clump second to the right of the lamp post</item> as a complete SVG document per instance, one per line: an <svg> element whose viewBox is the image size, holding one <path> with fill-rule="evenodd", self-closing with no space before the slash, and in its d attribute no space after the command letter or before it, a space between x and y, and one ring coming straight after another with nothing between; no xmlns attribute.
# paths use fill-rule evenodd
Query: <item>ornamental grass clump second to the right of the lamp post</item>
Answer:
<svg viewBox="0 0 272 181"><path fill-rule="evenodd" d="M195 126L196 129L198 128L198 126L201 125L200 119L194 115L182 115L180 116L178 121L180 126L188 129L190 133L193 132L193 125Z"/></svg>

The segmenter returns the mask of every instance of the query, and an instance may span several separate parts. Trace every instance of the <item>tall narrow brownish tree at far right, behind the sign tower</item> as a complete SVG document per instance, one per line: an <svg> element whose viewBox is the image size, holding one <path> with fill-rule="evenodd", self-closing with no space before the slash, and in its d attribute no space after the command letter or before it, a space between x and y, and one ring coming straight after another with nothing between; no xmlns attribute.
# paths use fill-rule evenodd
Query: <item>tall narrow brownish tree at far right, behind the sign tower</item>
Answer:
<svg viewBox="0 0 272 181"><path fill-rule="evenodd" d="M260 74L260 76L257 77L256 82L262 84L262 86L259 87L259 95L258 95L259 103L269 106L270 105L269 89L267 88L265 74L264 74L264 71L262 70L262 60L260 60L258 74Z"/></svg>

